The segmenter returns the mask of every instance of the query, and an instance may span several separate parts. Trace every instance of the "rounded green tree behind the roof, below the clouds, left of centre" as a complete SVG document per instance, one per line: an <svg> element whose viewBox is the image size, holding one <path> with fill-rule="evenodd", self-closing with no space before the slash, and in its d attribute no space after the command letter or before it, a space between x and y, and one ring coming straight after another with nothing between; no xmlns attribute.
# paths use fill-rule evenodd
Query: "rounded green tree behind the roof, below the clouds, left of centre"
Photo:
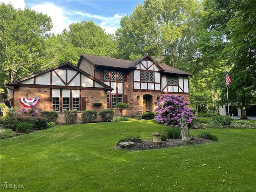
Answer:
<svg viewBox="0 0 256 192"><path fill-rule="evenodd" d="M59 39L60 38L60 39ZM58 38L61 46L60 62L77 64L80 54L115 57L114 35L107 34L93 21L72 23Z"/></svg>

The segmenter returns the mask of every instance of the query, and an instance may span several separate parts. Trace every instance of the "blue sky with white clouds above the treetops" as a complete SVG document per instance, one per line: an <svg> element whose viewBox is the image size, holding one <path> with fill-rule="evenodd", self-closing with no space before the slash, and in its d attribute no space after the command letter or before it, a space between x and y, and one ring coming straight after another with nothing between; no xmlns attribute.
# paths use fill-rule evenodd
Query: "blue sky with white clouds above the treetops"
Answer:
<svg viewBox="0 0 256 192"><path fill-rule="evenodd" d="M25 7L42 12L52 18L52 33L60 34L71 23L94 20L94 23L112 33L119 27L120 19L130 15L143 0L0 0L14 8Z"/></svg>

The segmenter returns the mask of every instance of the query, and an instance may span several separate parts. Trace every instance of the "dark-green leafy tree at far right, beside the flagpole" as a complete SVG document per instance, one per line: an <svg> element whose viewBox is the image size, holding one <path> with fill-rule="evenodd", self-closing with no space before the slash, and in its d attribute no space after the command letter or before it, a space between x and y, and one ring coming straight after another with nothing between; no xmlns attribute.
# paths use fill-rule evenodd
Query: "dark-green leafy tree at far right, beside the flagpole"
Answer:
<svg viewBox="0 0 256 192"><path fill-rule="evenodd" d="M209 42L215 45L204 54L218 50L214 60L223 69L217 76L216 88L222 91L222 103L227 102L224 73L227 65L232 79L228 87L230 102L242 108L242 118L246 119L246 107L256 102L256 5L253 1L236 0L203 3L204 24L211 34Z"/></svg>

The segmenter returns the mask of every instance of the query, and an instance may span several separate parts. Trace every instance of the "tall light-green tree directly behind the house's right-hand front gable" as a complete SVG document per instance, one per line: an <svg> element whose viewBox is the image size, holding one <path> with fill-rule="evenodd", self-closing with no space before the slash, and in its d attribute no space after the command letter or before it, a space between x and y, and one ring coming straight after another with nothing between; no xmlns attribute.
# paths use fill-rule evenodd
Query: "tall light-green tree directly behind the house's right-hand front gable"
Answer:
<svg viewBox="0 0 256 192"><path fill-rule="evenodd" d="M116 32L120 57L148 53L165 58L170 66L189 68L198 56L201 13L197 0L145 0L121 19Z"/></svg>

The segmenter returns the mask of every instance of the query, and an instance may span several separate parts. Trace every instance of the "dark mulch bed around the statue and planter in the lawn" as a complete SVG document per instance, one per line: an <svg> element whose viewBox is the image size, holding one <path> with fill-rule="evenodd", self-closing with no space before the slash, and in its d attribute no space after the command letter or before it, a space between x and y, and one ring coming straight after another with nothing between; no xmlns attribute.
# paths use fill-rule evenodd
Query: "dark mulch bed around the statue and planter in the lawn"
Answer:
<svg viewBox="0 0 256 192"><path fill-rule="evenodd" d="M215 142L213 140L193 137L191 138L192 144L190 145L196 145L196 144L205 144L205 143L212 143ZM184 146L188 145L184 142L182 142L180 139L166 139L166 141L163 141L160 144L156 144L153 142L153 140L142 140L141 143L135 143L135 146L132 148L125 148L127 150L148 150L148 149L160 149L160 148L167 148L167 147L177 147L177 146ZM119 146L114 146L116 149L120 149ZM124 149L124 148L122 148Z"/></svg>

